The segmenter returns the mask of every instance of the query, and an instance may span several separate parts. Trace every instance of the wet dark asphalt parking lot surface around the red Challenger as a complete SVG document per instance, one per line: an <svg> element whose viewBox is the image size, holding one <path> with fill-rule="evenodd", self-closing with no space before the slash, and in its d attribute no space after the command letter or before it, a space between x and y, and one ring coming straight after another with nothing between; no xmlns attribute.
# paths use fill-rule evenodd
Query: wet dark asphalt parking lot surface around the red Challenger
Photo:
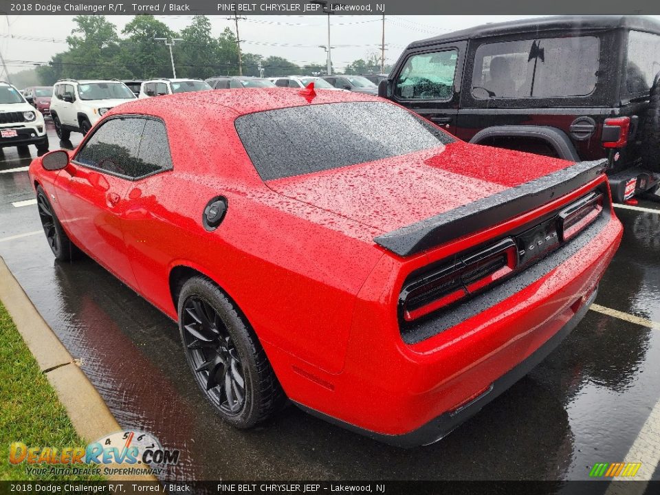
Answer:
<svg viewBox="0 0 660 495"><path fill-rule="evenodd" d="M174 322L91 259L54 261L29 201L33 157L34 146L0 153L0 256L122 428L181 450L164 478L584 480L630 451L660 479L660 203L617 208L624 239L597 306L547 360L445 439L400 450L294 406L254 430L225 425Z"/></svg>

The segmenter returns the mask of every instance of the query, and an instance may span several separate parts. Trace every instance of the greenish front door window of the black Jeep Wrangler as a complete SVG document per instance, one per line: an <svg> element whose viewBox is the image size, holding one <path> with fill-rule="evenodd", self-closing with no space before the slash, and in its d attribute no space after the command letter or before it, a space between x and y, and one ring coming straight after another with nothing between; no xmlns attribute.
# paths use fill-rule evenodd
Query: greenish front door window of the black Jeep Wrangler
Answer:
<svg viewBox="0 0 660 495"><path fill-rule="evenodd" d="M459 51L413 55L401 69L395 85L395 96L402 100L451 100Z"/></svg>

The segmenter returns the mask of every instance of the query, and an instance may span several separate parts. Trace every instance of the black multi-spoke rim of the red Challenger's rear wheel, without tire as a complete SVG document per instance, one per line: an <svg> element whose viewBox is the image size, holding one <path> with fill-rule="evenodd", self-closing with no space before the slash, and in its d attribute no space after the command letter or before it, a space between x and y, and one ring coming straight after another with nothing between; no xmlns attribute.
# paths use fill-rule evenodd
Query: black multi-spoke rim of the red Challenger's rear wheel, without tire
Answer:
<svg viewBox="0 0 660 495"><path fill-rule="evenodd" d="M217 311L199 296L184 303L184 344L197 382L224 415L245 407L245 375L234 341Z"/></svg>

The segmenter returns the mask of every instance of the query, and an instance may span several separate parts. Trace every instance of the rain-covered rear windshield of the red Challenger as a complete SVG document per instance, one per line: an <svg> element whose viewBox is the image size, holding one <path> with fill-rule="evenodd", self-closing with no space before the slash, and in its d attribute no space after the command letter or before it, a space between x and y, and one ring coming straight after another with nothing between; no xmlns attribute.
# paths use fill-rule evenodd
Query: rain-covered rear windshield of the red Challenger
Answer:
<svg viewBox="0 0 660 495"><path fill-rule="evenodd" d="M373 162L453 141L385 102L291 107L242 115L236 131L263 180Z"/></svg>

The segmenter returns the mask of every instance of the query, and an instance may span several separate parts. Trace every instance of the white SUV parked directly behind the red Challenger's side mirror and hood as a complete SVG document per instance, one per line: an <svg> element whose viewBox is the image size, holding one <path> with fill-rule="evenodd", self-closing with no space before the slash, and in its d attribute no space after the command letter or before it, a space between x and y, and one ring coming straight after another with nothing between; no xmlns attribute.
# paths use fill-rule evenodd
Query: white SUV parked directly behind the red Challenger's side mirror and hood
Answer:
<svg viewBox="0 0 660 495"><path fill-rule="evenodd" d="M135 95L120 80L58 80L50 102L55 132L65 141L72 132L86 135L107 111L130 100Z"/></svg>

